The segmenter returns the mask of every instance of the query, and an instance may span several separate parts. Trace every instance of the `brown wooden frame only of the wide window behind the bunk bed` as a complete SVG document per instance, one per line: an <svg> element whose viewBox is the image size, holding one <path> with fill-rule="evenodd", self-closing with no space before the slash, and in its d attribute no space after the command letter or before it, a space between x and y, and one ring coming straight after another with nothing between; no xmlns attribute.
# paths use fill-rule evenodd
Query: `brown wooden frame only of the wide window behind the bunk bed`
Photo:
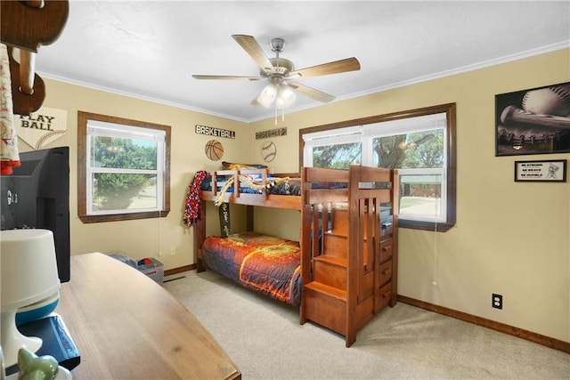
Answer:
<svg viewBox="0 0 570 380"><path fill-rule="evenodd" d="M456 209L456 203L457 203L456 103L446 103L431 107L410 109L410 110L389 113L385 115L362 117L362 118L345 120L327 125L317 125L317 126L299 129L298 146L299 146L300 167L304 166L305 140L303 139L303 136L306 133L326 132L339 128L354 127L357 125L376 124L376 123L394 121L409 117L422 117L437 113L444 113L447 121L446 139L444 141L444 149L447 150L447 162L446 162L447 182L444 184L447 195L446 207L445 207L445 222L400 219L398 223L399 226L402 228L409 228L415 230L435 230L441 232L451 230L456 223L456 214L457 214L456 212L457 210Z"/></svg>

